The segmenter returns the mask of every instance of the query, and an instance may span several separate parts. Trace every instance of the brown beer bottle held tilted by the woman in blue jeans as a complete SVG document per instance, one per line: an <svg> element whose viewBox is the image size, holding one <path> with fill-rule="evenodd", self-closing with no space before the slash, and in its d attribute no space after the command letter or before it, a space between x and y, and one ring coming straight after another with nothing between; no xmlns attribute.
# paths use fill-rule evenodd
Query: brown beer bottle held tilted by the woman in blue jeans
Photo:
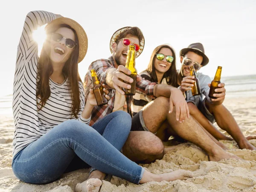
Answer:
<svg viewBox="0 0 256 192"><path fill-rule="evenodd" d="M103 86L100 84L97 73L95 69L90 70L92 80L93 80L93 93L98 106L106 105L108 100L105 98L105 92L103 91Z"/></svg>

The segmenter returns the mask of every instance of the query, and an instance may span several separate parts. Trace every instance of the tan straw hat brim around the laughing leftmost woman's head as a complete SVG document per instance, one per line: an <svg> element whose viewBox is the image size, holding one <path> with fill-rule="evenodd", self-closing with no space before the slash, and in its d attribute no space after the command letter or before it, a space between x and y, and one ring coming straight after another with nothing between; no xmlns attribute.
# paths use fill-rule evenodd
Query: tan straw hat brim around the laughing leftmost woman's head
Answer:
<svg viewBox="0 0 256 192"><path fill-rule="evenodd" d="M45 31L49 29L56 30L61 24L67 24L76 31L78 42L79 42L78 62L80 63L84 59L87 52L87 48L88 48L88 38L87 38L86 32L84 31L83 27L79 23L67 17L60 17L53 20L52 22L48 23L44 29Z"/></svg>

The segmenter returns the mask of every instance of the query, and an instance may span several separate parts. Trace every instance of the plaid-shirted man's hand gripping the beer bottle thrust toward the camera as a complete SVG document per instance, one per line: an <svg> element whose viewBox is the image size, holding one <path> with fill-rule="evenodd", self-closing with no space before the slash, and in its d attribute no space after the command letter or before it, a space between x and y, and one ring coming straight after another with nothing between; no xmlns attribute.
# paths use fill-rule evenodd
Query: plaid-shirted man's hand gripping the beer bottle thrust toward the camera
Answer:
<svg viewBox="0 0 256 192"><path fill-rule="evenodd" d="M113 88L118 91L120 94L124 95L125 92L121 89L121 87L124 87L125 89L130 89L131 85L127 84L126 82L133 82L133 79L127 75L131 75L131 71L125 68L123 65L119 65L118 68L113 72ZM137 81L141 81L141 77L137 76Z"/></svg>

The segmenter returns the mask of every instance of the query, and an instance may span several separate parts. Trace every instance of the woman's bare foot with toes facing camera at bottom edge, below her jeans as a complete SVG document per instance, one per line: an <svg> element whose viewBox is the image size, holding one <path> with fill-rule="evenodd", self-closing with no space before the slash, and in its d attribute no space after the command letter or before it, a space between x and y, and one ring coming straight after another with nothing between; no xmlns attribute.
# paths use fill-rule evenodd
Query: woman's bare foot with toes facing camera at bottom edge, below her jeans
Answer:
<svg viewBox="0 0 256 192"><path fill-rule="evenodd" d="M76 192L99 192L102 186L101 180L103 180L105 176L106 174L99 170L93 171L87 180L76 185Z"/></svg>

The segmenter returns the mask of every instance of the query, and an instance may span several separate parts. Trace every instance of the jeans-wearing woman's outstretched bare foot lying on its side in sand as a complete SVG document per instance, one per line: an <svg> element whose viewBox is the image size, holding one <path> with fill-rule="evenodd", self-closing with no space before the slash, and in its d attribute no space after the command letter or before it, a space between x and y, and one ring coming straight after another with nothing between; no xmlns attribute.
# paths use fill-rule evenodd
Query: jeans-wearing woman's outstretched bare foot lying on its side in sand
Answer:
<svg viewBox="0 0 256 192"><path fill-rule="evenodd" d="M193 173L191 171L186 171L183 169L176 170L171 173L164 173L160 175L162 180L173 181L173 180L187 180L193 177Z"/></svg>

